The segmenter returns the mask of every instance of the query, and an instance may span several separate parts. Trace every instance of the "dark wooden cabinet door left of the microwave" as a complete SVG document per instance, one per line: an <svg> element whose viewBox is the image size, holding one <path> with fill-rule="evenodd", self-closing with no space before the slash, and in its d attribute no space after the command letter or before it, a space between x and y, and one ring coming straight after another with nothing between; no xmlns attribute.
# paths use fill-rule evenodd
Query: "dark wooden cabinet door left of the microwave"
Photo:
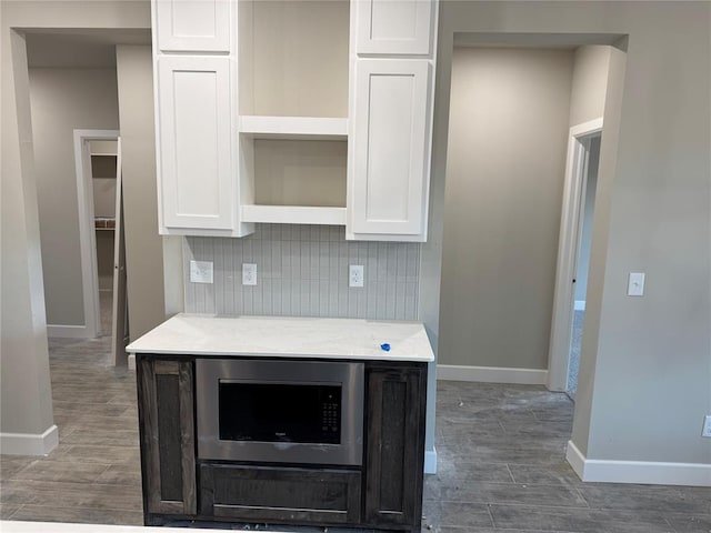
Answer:
<svg viewBox="0 0 711 533"><path fill-rule="evenodd" d="M147 516L197 513L192 369L184 360L137 361Z"/></svg>

